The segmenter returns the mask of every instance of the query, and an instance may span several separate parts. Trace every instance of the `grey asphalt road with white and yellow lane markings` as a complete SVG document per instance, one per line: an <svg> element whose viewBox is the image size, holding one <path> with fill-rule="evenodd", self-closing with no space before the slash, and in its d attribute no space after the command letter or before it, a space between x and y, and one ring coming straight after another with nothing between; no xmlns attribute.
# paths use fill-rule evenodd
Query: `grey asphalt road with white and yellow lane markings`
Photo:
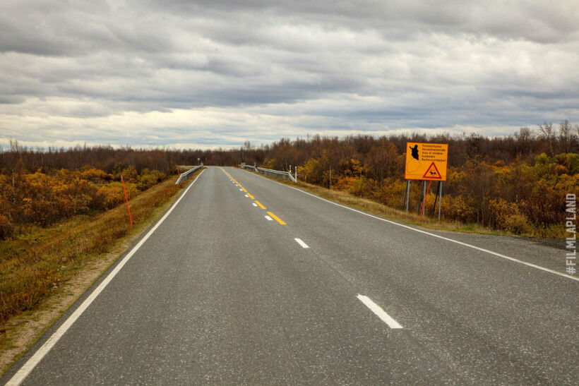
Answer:
<svg viewBox="0 0 579 386"><path fill-rule="evenodd" d="M173 208L0 383L579 383L576 279L239 169Z"/></svg>

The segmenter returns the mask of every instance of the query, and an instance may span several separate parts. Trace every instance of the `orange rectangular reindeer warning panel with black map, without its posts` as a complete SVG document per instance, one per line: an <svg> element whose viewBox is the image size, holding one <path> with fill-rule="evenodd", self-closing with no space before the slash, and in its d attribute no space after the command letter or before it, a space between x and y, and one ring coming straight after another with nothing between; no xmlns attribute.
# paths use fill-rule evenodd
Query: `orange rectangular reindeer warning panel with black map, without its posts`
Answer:
<svg viewBox="0 0 579 386"><path fill-rule="evenodd" d="M404 178L446 181L447 143L406 143Z"/></svg>

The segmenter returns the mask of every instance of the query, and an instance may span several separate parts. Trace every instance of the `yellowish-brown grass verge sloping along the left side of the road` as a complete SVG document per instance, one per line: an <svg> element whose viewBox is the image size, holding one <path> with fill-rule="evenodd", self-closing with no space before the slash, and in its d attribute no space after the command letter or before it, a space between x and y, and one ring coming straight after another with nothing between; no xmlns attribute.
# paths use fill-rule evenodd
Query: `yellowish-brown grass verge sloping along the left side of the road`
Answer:
<svg viewBox="0 0 579 386"><path fill-rule="evenodd" d="M73 217L52 227L30 227L29 233L0 242L1 323L13 315L35 310L40 302L83 269L87 260L109 251L119 239L138 231L155 209L164 205L185 183L174 179L157 184L129 201L131 229L123 203L98 215Z"/></svg>

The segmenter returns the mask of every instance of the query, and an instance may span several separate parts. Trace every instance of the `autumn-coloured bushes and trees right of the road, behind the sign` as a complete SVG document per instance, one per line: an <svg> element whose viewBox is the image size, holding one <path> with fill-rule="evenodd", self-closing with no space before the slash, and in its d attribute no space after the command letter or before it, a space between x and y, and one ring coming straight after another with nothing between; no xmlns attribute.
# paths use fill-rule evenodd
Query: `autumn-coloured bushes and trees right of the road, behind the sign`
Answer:
<svg viewBox="0 0 579 386"><path fill-rule="evenodd" d="M446 222L472 231L486 228L539 238L565 236L565 196L579 195L579 126L568 121L559 127L543 123L537 131L520 128L501 138L316 135L266 147L246 143L239 152L246 164L258 167L289 171L290 165L297 166L300 181L386 205L400 218L406 216L395 210L403 207L407 142L449 144L441 210ZM426 217L433 215L436 184L433 187L426 198ZM412 181L410 188L410 212L416 213L422 204L418 202L420 182Z"/></svg>

